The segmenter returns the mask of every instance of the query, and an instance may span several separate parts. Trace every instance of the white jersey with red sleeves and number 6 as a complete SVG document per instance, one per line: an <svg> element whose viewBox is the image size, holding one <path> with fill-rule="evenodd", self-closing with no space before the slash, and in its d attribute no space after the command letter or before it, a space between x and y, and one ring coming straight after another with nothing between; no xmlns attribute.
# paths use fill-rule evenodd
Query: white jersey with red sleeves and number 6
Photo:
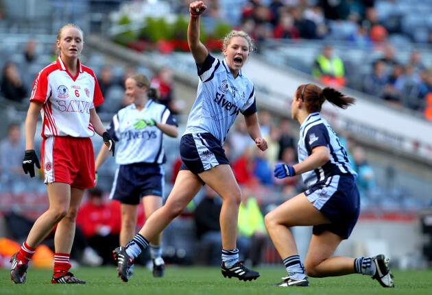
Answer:
<svg viewBox="0 0 432 295"><path fill-rule="evenodd" d="M72 77L58 57L38 73L30 101L43 105L43 138L73 136L88 138L95 135L90 122L90 110L104 102L93 70L78 62L79 72Z"/></svg>

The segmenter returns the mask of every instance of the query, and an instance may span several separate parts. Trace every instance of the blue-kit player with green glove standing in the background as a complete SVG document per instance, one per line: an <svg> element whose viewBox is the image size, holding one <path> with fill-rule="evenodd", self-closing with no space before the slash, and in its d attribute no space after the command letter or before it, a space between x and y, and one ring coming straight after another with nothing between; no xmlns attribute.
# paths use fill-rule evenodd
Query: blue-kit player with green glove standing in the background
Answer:
<svg viewBox="0 0 432 295"><path fill-rule="evenodd" d="M143 199L148 218L163 204L165 185L165 149L163 135L176 138L178 125L165 105L156 103L158 90L150 87L145 75L132 75L125 81L125 94L131 104L112 118L108 133L119 142L117 146L114 183L110 198L120 201L120 245L125 246L136 233L138 205ZM108 149L101 146L96 158L98 170L108 157ZM150 257L154 277L163 277L162 233L150 240Z"/></svg>

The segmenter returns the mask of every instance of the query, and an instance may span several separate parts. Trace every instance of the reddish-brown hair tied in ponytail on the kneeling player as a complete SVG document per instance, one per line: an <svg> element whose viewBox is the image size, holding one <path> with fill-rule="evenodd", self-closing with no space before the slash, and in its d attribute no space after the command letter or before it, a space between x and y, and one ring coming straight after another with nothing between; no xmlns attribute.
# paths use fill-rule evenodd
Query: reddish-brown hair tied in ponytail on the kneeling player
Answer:
<svg viewBox="0 0 432 295"><path fill-rule="evenodd" d="M304 85L300 85L297 88L296 97L301 99L301 91ZM306 103L307 111L309 114L315 112L321 112L322 104L327 100L333 105L340 107L341 109L346 109L349 105L355 103L355 99L352 97L346 97L346 95L339 92L335 88L326 87L324 89L320 88L315 84L309 84L303 90L303 100Z"/></svg>

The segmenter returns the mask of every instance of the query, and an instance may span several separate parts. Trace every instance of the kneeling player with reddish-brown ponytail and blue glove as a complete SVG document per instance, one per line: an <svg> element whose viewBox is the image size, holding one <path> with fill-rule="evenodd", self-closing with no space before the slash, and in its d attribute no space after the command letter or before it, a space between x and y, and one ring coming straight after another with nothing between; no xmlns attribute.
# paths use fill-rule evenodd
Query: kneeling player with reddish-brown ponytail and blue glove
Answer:
<svg viewBox="0 0 432 295"><path fill-rule="evenodd" d="M346 109L355 102L333 88L314 84L298 87L291 104L293 120L300 123L299 163L277 164L277 178L302 175L307 190L289 199L265 216L265 227L276 246L288 276L277 286L308 286L310 277L368 274L383 287L394 287L388 259L374 257L331 257L348 239L360 213L360 196L344 146L335 131L321 118L322 104L329 101ZM304 266L290 227L313 226L313 235Z"/></svg>

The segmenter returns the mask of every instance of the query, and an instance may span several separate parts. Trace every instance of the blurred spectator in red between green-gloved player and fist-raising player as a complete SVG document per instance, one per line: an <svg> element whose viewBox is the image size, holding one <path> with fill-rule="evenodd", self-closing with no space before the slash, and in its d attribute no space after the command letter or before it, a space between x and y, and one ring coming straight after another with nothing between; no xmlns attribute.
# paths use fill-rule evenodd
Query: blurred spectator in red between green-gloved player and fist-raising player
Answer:
<svg viewBox="0 0 432 295"><path fill-rule="evenodd" d="M182 107L173 97L173 86L173 71L168 67L160 68L156 76L150 80L150 87L160 92L159 103L168 107L171 114L181 114Z"/></svg>

